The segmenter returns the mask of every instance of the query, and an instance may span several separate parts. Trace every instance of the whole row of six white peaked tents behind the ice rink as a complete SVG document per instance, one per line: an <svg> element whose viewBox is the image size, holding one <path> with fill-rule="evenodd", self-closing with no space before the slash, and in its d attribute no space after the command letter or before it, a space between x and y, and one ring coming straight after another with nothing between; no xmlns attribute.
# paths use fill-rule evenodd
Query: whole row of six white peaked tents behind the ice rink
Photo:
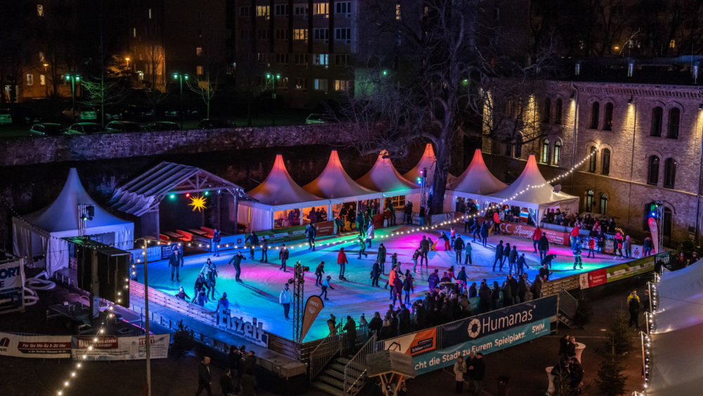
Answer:
<svg viewBox="0 0 703 396"><path fill-rule="evenodd" d="M415 181L423 170L427 170L427 185L431 185L436 162L432 145L427 144L418 165L401 175L389 158L381 153L371 170L354 180L344 171L337 151L333 151L325 170L301 187L288 174L283 157L277 155L269 176L262 184L247 191L247 195L257 202L239 203L238 221L253 231L274 229L276 220L285 217L285 212L300 210L299 222L303 224L304 212L311 208L323 208L327 220L332 220L343 203L378 199L382 211L385 205L383 198L398 196L404 196L406 203L412 202L417 212L420 208L420 186ZM571 212L579 207L578 197L557 192L546 182L538 170L534 155L530 155L520 177L508 186L491 174L478 149L469 167L459 177L449 175L444 196L445 212L455 210L456 198L476 200L481 208L490 203L520 206L529 210L534 222L541 219L543 212L550 207Z"/></svg>

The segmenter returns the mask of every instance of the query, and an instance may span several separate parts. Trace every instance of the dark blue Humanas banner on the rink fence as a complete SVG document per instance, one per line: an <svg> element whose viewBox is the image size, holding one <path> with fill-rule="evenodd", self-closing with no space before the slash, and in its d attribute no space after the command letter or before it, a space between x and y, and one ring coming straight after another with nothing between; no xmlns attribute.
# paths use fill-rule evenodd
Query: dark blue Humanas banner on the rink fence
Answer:
<svg viewBox="0 0 703 396"><path fill-rule="evenodd" d="M556 314L557 296L550 295L546 298L480 314L463 321L445 324L442 326L441 347L446 348L465 343L468 340L490 336L508 328L548 319Z"/></svg>

